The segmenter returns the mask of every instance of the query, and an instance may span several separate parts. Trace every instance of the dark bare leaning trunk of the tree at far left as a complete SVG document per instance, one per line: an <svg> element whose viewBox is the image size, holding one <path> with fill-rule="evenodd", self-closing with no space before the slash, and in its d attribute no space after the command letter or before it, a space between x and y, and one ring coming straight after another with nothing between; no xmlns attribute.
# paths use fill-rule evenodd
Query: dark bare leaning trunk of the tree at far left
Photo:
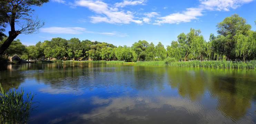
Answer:
<svg viewBox="0 0 256 124"><path fill-rule="evenodd" d="M11 42L20 34L20 31L9 31L9 37L3 42L0 47L0 55L10 46Z"/></svg>

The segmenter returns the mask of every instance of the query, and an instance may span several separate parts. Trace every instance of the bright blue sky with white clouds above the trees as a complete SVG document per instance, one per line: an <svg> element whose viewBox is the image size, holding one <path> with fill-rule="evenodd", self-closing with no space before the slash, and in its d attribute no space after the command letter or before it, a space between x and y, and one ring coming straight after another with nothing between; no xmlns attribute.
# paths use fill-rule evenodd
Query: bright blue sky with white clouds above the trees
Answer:
<svg viewBox="0 0 256 124"><path fill-rule="evenodd" d="M25 45L60 37L116 46L146 40L166 47L190 28L200 29L208 41L210 33L217 35L216 24L234 13L255 31L255 6L255 0L50 0L33 7L33 14L45 20L39 33L17 39Z"/></svg>

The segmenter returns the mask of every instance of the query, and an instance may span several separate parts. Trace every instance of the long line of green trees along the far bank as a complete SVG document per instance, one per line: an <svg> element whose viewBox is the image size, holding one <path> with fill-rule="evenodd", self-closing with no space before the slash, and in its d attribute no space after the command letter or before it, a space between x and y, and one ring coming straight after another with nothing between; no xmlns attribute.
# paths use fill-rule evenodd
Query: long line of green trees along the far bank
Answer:
<svg viewBox="0 0 256 124"><path fill-rule="evenodd" d="M180 33L177 41L172 41L165 49L159 42L154 45L139 40L129 46L115 46L105 42L80 41L52 38L25 46L19 40L13 41L5 54L22 54L25 59L57 60L118 60L118 61L162 61L175 58L187 60L253 60L256 58L256 32L238 14L226 17L217 25L217 33L210 34L206 42L200 30L190 29L187 34ZM1 40L1 44L7 37ZM0 44L0 45L1 45Z"/></svg>

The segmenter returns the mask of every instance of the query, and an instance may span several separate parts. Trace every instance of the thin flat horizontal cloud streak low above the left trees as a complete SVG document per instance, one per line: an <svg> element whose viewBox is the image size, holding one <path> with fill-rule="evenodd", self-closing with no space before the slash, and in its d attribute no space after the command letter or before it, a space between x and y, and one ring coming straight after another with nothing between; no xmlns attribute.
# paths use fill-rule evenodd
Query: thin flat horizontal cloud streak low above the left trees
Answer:
<svg viewBox="0 0 256 124"><path fill-rule="evenodd" d="M52 34L81 34L85 31L85 28L80 27L49 27L41 28L41 32Z"/></svg>

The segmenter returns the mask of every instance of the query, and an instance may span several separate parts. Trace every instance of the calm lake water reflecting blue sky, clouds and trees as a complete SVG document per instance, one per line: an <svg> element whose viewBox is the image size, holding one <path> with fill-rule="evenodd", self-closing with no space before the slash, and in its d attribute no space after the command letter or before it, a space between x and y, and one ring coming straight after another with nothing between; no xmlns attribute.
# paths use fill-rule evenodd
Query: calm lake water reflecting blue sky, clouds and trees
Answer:
<svg viewBox="0 0 256 124"><path fill-rule="evenodd" d="M36 93L31 124L256 123L256 71L103 63L1 66Z"/></svg>

